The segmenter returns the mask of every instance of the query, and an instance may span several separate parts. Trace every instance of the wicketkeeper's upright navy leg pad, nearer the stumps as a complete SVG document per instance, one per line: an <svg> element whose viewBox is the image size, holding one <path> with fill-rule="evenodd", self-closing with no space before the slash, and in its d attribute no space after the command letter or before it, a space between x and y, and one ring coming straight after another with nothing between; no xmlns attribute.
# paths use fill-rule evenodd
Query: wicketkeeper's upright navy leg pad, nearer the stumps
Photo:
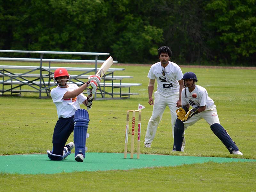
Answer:
<svg viewBox="0 0 256 192"><path fill-rule="evenodd" d="M174 126L174 142L173 149L176 151L181 150L182 141L184 138L184 123L180 119L176 119Z"/></svg>

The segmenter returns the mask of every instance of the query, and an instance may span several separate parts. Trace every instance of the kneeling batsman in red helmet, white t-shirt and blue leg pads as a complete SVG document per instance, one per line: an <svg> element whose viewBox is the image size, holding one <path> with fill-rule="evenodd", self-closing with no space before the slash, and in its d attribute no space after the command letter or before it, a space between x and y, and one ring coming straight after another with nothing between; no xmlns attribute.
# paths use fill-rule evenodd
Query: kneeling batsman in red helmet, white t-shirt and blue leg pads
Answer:
<svg viewBox="0 0 256 192"><path fill-rule="evenodd" d="M57 121L52 136L52 151L47 150L51 160L63 160L70 155L75 147L75 160L83 162L85 157L86 138L89 137L87 128L89 125L89 114L85 109L80 109L80 104L92 107L92 95L97 91L97 85L101 77L92 75L89 81L78 87L76 84L67 84L70 80L65 68L58 68L54 72L54 82L58 85L51 91L53 103L56 105L59 120ZM92 89L87 91L88 97L82 93L86 87L91 85ZM67 145L70 134L74 131L74 142Z"/></svg>

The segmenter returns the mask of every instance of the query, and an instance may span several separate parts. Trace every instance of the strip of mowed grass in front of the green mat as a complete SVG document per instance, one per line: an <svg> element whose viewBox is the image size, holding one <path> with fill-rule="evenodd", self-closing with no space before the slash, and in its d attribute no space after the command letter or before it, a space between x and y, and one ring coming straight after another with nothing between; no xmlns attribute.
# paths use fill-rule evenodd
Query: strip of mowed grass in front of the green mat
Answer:
<svg viewBox="0 0 256 192"><path fill-rule="evenodd" d="M1 191L255 191L255 163L1 176Z"/></svg>

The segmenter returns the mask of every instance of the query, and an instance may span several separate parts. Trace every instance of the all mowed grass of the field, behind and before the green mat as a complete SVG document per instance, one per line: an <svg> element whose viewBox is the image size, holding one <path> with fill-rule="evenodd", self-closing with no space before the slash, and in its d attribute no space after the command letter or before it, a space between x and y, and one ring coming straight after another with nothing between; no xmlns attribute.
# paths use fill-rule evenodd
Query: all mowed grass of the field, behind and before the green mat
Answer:
<svg viewBox="0 0 256 192"><path fill-rule="evenodd" d="M0 64L28 65L22 62L18 64L1 62ZM29 63L29 65L37 64ZM112 67L125 68L125 71L115 72L114 75L133 76L132 79L124 79L122 82L142 83L142 86L132 87L131 92L138 92L139 95L131 96L127 100L94 101L89 111L90 138L86 142L88 152L123 153L126 110L138 109L138 103L140 103L146 107L142 110L141 153L174 155L171 152L173 138L168 108L164 111L152 147L143 147L148 120L152 114L152 106L148 104L147 74L150 65L119 66L114 64ZM185 134L187 141L185 152L178 152L175 155L256 159L256 70L185 67L181 69L183 73L187 71L196 73L199 79L198 85L205 87L209 96L215 101L220 123L236 141L244 156L230 155L204 120L188 128ZM19 71L13 72L19 73ZM37 93L22 93L21 97L0 97L0 154L46 154L46 150L52 148L52 133L56 121L56 108L51 99L38 99ZM68 141L72 140L73 135ZM115 163L114 159L113 163ZM224 164L210 162L129 171L75 172L53 175L0 174L1 181L3 181L0 183L0 188L9 191L74 191L75 189L87 191L255 191L255 171L255 162Z"/></svg>

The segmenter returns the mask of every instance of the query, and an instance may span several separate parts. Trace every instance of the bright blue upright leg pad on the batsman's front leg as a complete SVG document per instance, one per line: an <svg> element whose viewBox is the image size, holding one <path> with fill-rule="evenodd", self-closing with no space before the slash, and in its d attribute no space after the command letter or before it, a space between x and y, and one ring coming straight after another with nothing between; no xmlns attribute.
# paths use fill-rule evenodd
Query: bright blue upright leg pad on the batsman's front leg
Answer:
<svg viewBox="0 0 256 192"><path fill-rule="evenodd" d="M76 110L74 116L75 156L81 153L85 157L86 133L89 121L89 114L85 109Z"/></svg>

